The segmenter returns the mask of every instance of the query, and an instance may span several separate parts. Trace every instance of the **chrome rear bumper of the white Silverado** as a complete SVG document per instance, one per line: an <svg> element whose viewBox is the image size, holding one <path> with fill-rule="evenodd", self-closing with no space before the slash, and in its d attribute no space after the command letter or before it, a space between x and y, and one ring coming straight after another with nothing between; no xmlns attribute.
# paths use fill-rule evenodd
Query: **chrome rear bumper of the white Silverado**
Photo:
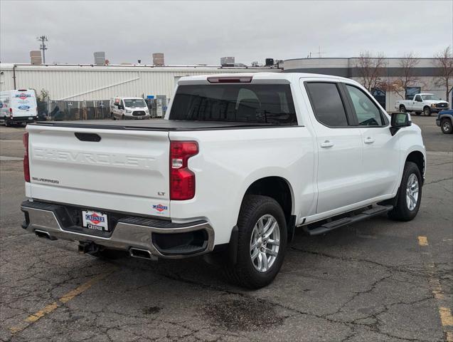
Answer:
<svg viewBox="0 0 453 342"><path fill-rule="evenodd" d="M112 227L110 236L87 234L86 228L73 225L69 207L63 204L25 201L23 229L48 239L93 242L109 249L131 252L148 251L156 258L181 259L211 252L214 230L208 222L199 220L176 224L161 219L122 215Z"/></svg>

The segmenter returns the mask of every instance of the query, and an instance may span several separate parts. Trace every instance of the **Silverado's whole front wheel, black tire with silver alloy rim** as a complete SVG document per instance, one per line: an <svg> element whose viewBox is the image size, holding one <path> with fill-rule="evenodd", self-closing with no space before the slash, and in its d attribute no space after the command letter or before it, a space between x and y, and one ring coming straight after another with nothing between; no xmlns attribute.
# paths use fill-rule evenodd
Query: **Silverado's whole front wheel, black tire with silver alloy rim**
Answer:
<svg viewBox="0 0 453 342"><path fill-rule="evenodd" d="M391 219L410 221L417 216L422 199L422 174L415 162L406 162L395 207L388 213Z"/></svg>

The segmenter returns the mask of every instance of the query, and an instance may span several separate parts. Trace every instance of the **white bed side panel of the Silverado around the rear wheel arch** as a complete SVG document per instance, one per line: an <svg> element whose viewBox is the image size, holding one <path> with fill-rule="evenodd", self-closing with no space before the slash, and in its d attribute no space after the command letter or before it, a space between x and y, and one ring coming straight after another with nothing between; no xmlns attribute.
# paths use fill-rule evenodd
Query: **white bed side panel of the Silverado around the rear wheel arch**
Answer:
<svg viewBox="0 0 453 342"><path fill-rule="evenodd" d="M314 152L302 126L171 132L171 140L195 140L198 155L188 161L196 174L196 196L171 201L171 219L207 219L215 244L227 243L238 222L247 188L263 177L282 177L292 191L292 212L314 200Z"/></svg>

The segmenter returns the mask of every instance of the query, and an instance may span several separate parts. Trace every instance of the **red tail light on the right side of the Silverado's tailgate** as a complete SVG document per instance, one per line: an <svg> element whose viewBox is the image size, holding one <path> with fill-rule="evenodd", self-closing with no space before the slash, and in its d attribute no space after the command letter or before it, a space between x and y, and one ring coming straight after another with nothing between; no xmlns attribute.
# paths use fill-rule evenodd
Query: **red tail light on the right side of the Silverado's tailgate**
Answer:
<svg viewBox="0 0 453 342"><path fill-rule="evenodd" d="M197 153L195 141L170 142L170 199L182 201L195 196L195 174L187 164Z"/></svg>

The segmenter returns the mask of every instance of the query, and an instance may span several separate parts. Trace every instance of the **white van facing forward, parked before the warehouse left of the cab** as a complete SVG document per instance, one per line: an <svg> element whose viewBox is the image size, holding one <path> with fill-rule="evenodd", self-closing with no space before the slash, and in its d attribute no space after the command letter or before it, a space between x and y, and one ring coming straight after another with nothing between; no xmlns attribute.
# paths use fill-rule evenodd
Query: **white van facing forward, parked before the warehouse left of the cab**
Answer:
<svg viewBox="0 0 453 342"><path fill-rule="evenodd" d="M117 119L149 119L148 105L143 98L111 98L110 114Z"/></svg>

